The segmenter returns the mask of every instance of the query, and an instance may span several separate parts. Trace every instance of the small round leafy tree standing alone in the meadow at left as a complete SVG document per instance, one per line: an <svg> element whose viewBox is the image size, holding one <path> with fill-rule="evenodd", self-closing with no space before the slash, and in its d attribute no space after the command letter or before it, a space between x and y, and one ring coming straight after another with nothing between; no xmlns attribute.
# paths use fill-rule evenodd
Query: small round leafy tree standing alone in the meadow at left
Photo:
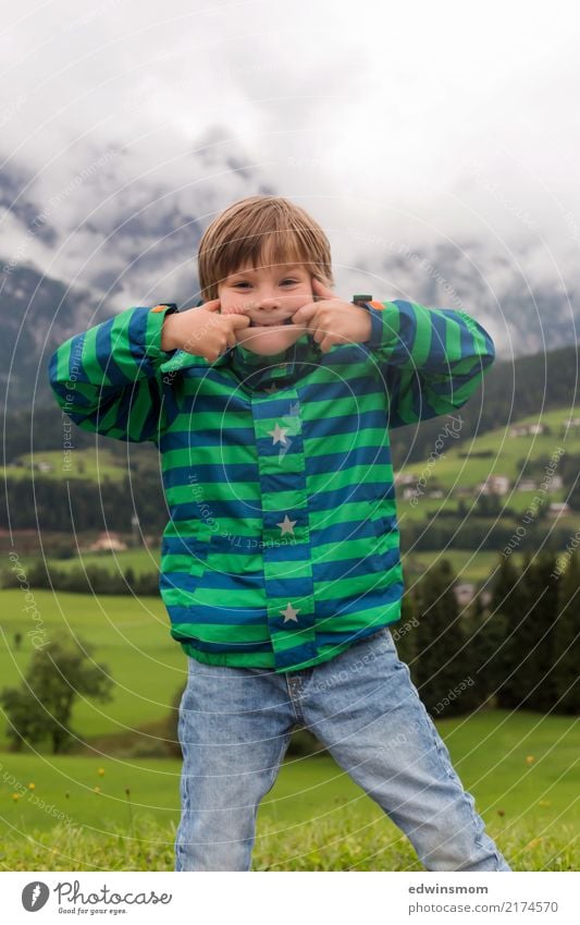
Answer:
<svg viewBox="0 0 580 925"><path fill-rule="evenodd" d="M79 640L53 637L34 654L20 689L0 693L14 751L49 739L52 753L67 750L75 735L71 714L76 697L111 699L113 681L106 665L91 660L92 647Z"/></svg>

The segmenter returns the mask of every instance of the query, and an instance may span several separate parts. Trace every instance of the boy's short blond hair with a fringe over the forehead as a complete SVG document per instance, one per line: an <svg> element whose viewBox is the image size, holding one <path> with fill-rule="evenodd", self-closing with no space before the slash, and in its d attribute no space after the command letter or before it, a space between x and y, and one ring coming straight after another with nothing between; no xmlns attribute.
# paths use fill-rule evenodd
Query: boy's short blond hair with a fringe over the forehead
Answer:
<svg viewBox="0 0 580 925"><path fill-rule="evenodd" d="M198 272L205 302L218 297L218 283L242 266L254 269L304 264L332 287L331 247L321 227L283 196L248 196L213 219L199 242Z"/></svg>

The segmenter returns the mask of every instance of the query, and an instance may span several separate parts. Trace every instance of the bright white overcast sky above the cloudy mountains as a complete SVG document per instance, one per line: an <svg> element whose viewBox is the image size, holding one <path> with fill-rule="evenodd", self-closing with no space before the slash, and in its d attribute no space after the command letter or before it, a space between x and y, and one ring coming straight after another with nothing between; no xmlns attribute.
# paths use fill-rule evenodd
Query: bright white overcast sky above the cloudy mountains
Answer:
<svg viewBox="0 0 580 925"><path fill-rule="evenodd" d="M323 224L338 281L362 281L350 267L365 259L375 297L388 296L374 256L399 241L481 239L523 260L532 285L566 280L580 246L579 39L576 4L557 0L24 0L2 10L0 159L29 173L37 203L119 149L115 182L140 177L152 198L183 187L189 208L268 183ZM220 156L254 168L249 188L223 159L192 158L218 129ZM54 224L85 223L107 178L103 165ZM121 191L111 221L123 208L135 203ZM23 226L0 219L5 259ZM49 253L35 240L25 256L78 276L75 241Z"/></svg>

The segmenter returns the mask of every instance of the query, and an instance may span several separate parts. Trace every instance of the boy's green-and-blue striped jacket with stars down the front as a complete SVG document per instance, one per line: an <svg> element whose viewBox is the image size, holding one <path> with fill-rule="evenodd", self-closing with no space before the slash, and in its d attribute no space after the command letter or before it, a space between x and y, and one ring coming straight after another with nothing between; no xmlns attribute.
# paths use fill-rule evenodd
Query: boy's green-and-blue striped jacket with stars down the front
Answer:
<svg viewBox="0 0 580 925"><path fill-rule="evenodd" d="M367 299L367 296L365 296ZM289 671L400 619L388 428L453 414L494 360L465 312L368 301L371 337L263 357L161 349L175 305L128 308L53 353L84 430L151 440L170 520L159 587L199 661Z"/></svg>

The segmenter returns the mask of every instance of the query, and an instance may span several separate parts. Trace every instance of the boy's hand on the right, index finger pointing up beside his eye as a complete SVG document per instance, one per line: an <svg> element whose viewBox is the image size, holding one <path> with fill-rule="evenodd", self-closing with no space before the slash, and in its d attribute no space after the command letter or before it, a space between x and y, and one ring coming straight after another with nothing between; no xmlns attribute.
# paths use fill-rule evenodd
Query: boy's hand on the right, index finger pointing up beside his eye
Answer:
<svg viewBox="0 0 580 925"><path fill-rule="evenodd" d="M333 344L365 343L371 336L369 313L351 302L343 302L333 291L312 277L312 292L320 302L308 302L292 317L293 325L305 325L323 353Z"/></svg>

